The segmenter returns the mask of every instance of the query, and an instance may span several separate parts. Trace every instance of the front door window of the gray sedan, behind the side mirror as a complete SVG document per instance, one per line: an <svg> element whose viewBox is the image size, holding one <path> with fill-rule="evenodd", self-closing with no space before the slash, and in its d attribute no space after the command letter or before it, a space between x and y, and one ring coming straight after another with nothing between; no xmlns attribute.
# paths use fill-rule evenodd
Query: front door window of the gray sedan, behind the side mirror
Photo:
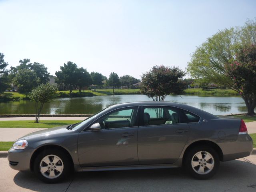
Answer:
<svg viewBox="0 0 256 192"><path fill-rule="evenodd" d="M133 127L136 123L137 110L138 107L115 110L101 117L97 122L102 129Z"/></svg>

